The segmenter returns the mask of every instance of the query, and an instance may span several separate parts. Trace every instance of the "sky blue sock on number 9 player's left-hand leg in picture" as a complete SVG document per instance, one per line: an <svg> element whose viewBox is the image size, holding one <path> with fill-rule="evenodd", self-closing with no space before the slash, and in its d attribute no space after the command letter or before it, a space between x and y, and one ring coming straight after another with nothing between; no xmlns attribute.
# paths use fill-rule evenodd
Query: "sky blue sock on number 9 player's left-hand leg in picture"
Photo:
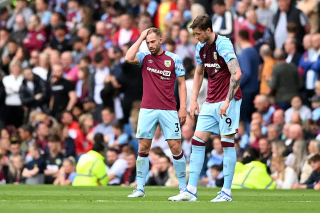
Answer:
<svg viewBox="0 0 320 213"><path fill-rule="evenodd" d="M191 193L196 193L196 185L203 166L205 154L205 142L196 136L192 137L192 152L190 155L189 181L187 189Z"/></svg>

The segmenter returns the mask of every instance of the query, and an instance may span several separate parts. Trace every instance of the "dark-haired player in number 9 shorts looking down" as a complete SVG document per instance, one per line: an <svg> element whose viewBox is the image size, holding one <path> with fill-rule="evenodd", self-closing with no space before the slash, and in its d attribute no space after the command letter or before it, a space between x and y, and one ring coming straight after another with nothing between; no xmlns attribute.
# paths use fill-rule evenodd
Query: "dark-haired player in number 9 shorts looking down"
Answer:
<svg viewBox="0 0 320 213"><path fill-rule="evenodd" d="M196 61L191 96L190 115L199 112L194 136L191 140L189 181L180 194L169 200L194 201L197 199L196 185L204 161L205 141L211 133L221 135L223 148L224 184L212 202L232 201L231 183L236 163L234 134L239 125L242 93L239 88L241 70L231 41L212 30L212 21L207 14L198 15L190 25L199 42L196 45ZM205 102L199 111L197 97L202 84L204 70L209 75Z"/></svg>

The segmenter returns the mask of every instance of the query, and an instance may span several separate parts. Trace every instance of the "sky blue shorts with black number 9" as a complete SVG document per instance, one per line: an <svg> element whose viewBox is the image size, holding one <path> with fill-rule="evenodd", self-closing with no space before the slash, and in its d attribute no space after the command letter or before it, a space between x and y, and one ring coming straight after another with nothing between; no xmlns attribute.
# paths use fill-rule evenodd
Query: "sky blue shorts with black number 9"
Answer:
<svg viewBox="0 0 320 213"><path fill-rule="evenodd" d="M226 117L219 115L219 109L224 101L216 103L204 102L196 122L195 131L208 131L213 134L229 135L238 132L240 106L242 99L233 98L226 109Z"/></svg>

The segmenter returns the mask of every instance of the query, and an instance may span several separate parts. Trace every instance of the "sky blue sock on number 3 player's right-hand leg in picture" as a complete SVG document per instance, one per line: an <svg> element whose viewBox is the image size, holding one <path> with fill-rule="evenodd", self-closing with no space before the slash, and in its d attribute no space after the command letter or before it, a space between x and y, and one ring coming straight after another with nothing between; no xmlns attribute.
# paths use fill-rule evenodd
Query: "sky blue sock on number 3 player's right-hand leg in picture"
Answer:
<svg viewBox="0 0 320 213"><path fill-rule="evenodd" d="M179 180L179 190L186 188L186 173L185 173L185 157L181 151L178 155L173 155L173 167L176 173L176 176Z"/></svg>

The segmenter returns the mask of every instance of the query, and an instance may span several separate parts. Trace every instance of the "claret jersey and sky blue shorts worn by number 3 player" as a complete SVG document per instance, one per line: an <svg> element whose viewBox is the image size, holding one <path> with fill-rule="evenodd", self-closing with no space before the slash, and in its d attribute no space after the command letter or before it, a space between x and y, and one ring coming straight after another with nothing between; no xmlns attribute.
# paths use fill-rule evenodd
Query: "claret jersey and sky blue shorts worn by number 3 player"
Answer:
<svg viewBox="0 0 320 213"><path fill-rule="evenodd" d="M185 74L181 59L168 51L163 51L160 55L139 52L136 56L143 78L136 137L152 139L159 124L165 139L180 139L181 128L176 111L174 83L176 77Z"/></svg>

